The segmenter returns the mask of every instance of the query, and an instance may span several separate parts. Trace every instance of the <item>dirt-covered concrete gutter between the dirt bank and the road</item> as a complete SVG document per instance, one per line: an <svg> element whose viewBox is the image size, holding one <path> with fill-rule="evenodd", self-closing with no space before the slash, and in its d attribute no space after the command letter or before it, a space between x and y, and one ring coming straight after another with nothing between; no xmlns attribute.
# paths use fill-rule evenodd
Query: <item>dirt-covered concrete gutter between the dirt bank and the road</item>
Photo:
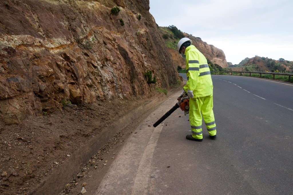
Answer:
<svg viewBox="0 0 293 195"><path fill-rule="evenodd" d="M54 169L52 174L47 176L30 194L46 194L54 195L62 191L64 186L69 182L84 164L97 153L97 151L107 143L111 137L120 132L121 129L130 124L133 120L137 119L140 115L148 111L150 108L161 104L169 96L182 89L182 86L171 90L164 99L161 96L139 106L137 109L128 113L124 117L117 120L112 125L106 127L100 134L96 135L86 145L81 147L78 151L71 155L61 166Z"/></svg>

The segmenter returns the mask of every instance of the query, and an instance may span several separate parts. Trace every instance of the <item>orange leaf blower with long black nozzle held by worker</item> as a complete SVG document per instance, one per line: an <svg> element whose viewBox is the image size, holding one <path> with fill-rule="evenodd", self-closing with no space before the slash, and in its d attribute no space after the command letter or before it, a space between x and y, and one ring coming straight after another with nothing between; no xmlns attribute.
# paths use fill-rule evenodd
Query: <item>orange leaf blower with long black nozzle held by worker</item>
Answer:
<svg viewBox="0 0 293 195"><path fill-rule="evenodd" d="M184 115L189 113L189 97L185 92L183 92L178 98L178 102L171 108L166 114L164 114L155 124L154 127L157 127L161 122L163 122L166 118L168 118L177 108L181 108L184 111Z"/></svg>

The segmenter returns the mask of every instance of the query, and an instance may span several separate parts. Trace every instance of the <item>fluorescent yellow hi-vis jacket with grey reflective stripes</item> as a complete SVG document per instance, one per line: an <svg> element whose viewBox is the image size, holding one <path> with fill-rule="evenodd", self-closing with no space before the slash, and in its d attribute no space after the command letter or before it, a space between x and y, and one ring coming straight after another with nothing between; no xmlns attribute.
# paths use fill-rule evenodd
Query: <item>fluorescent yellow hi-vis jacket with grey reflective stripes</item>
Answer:
<svg viewBox="0 0 293 195"><path fill-rule="evenodd" d="M194 98L213 94L213 82L205 56L190 45L185 50L187 83L184 91L192 90Z"/></svg>

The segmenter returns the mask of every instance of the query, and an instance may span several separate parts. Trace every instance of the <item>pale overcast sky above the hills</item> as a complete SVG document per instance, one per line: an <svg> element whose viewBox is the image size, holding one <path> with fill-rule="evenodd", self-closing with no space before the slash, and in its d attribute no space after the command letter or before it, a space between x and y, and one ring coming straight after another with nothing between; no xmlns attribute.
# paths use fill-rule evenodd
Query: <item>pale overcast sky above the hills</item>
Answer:
<svg viewBox="0 0 293 195"><path fill-rule="evenodd" d="M150 7L159 26L201 37L227 62L255 55L293 61L292 0L150 0Z"/></svg>

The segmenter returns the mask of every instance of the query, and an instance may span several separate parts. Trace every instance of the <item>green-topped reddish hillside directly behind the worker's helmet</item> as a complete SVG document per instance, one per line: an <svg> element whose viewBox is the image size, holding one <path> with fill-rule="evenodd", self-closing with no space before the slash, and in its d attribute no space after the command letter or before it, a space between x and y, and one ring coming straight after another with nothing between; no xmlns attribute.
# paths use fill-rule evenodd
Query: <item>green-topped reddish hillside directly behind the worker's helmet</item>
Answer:
<svg viewBox="0 0 293 195"><path fill-rule="evenodd" d="M209 60L211 66L215 66L221 69L228 67L226 56L224 51L216 48L213 45L209 45L203 42L200 37L194 37L191 34L183 33L178 30L176 26L159 27L160 33L165 40L168 51L170 52L174 66L181 66L185 68L184 59L178 54L177 44L183 37L188 37L192 40L193 45Z"/></svg>

